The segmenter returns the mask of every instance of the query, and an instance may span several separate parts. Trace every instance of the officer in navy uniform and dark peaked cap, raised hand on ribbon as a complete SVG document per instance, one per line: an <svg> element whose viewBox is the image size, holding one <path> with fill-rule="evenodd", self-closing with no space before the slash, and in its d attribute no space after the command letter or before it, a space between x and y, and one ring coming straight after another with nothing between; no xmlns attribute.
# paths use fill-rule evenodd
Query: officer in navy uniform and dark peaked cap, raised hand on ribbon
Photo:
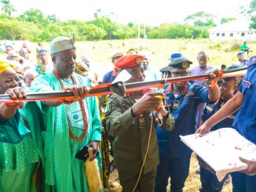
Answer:
<svg viewBox="0 0 256 192"><path fill-rule="evenodd" d="M168 67L172 78L188 76L189 65L192 62L185 57L172 60ZM215 73L215 74L214 74ZM182 191L185 179L188 177L189 162L192 151L181 142L180 136L195 132L196 107L208 100L215 102L221 96L218 85L215 85L218 71L208 71L208 89L188 82L177 82L166 85L164 92L166 104L175 119L174 131L157 128L159 143L159 166L155 181L155 191L166 191L170 179L172 192Z"/></svg>

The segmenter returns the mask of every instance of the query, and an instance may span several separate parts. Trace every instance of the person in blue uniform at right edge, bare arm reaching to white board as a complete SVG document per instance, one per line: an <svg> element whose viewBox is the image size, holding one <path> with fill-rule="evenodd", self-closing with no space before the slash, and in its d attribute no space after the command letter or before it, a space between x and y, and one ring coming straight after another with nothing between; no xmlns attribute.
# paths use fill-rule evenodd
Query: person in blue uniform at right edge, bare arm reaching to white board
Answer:
<svg viewBox="0 0 256 192"><path fill-rule="evenodd" d="M246 139L256 144L256 100L252 98L255 96L256 92L256 56L250 58L248 66L247 74L240 82L236 95L225 103L216 114L205 121L196 131L201 136L203 136L204 133L209 132L215 124L221 121L221 119L227 118L230 114L240 108L232 127L240 132ZM250 161L246 162L250 165ZM249 173L250 168L251 166L244 172ZM256 191L256 176L247 176L245 173L231 173L233 192Z"/></svg>

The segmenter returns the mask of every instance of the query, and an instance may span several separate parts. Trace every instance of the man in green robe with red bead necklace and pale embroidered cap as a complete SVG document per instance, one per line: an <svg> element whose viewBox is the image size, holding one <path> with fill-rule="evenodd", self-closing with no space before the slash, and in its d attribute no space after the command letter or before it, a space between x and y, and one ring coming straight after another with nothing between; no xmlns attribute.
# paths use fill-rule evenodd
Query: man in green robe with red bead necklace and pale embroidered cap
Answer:
<svg viewBox="0 0 256 192"><path fill-rule="evenodd" d="M42 73L31 92L70 90L75 100L27 102L25 117L42 160L44 191L89 191L83 160L75 154L89 145L98 159L101 118L95 97L86 97L90 82L75 74L74 38L58 37L50 43L53 71Z"/></svg>

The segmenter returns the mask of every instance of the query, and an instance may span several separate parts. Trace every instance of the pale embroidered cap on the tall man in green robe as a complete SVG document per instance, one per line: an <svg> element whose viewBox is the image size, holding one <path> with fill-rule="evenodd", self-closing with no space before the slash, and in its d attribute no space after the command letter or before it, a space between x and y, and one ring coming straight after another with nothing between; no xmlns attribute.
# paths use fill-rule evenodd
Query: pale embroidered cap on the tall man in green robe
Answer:
<svg viewBox="0 0 256 192"><path fill-rule="evenodd" d="M57 37L50 42L50 53L59 53L64 50L75 49L75 37Z"/></svg>

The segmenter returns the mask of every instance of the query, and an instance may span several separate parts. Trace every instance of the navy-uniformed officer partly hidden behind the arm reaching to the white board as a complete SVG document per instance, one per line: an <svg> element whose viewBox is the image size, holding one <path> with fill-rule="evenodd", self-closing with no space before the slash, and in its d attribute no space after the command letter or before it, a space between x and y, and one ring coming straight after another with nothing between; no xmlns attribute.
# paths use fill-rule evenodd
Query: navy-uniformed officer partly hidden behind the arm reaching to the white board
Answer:
<svg viewBox="0 0 256 192"><path fill-rule="evenodd" d="M207 102L207 106L204 108L203 115L201 117L202 121L207 121L207 119L214 115L228 100L232 98L232 96L234 96L234 91L237 87L237 81L237 77L221 78L219 80L218 85L221 90L221 98L214 103ZM218 124L214 125L211 130L215 131L217 129L231 127L236 113L237 111L234 114L230 114L229 117L218 122ZM225 179L228 177L229 175L227 175ZM200 166L200 180L202 183L202 187L200 189L201 192L220 192L225 179L223 179L221 182L218 181L218 178L215 176L215 174Z"/></svg>

